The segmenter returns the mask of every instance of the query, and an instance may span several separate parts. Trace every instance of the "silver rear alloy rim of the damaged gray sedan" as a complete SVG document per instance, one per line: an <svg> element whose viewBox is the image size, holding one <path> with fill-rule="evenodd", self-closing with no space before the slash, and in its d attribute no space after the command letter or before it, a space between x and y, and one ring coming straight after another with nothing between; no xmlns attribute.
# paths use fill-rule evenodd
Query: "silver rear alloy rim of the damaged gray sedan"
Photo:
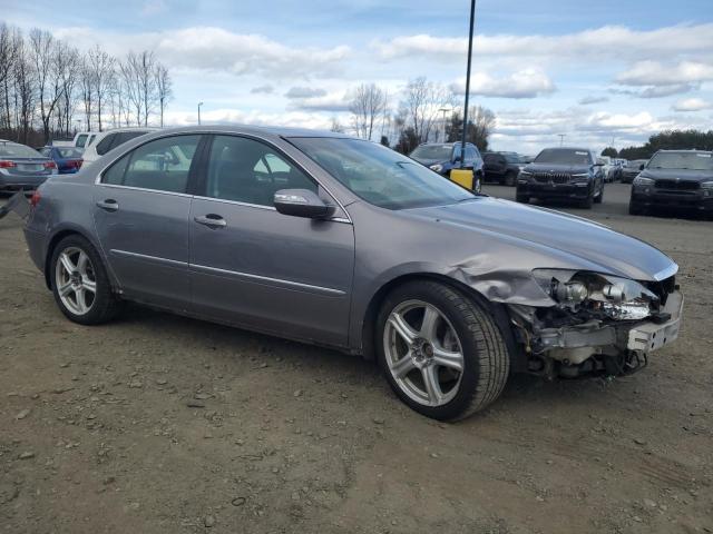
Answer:
<svg viewBox="0 0 713 534"><path fill-rule="evenodd" d="M64 249L55 268L57 293L65 307L75 315L86 315L97 296L97 278L87 253L78 247Z"/></svg>

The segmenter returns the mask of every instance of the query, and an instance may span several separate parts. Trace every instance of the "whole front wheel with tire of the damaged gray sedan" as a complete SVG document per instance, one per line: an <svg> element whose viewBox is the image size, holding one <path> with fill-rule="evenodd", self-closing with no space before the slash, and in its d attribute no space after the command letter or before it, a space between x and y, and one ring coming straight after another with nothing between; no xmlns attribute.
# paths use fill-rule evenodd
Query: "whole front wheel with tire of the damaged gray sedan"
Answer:
<svg viewBox="0 0 713 534"><path fill-rule="evenodd" d="M404 284L387 297L377 322L379 363L416 412L459 419L502 392L510 362L500 330L461 293L436 281Z"/></svg>

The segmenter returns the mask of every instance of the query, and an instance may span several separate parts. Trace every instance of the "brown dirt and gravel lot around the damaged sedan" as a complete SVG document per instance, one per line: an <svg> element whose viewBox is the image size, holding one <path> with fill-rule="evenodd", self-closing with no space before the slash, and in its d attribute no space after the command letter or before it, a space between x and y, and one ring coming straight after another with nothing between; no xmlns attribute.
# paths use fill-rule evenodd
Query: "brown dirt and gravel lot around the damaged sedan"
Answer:
<svg viewBox="0 0 713 534"><path fill-rule="evenodd" d="M452 425L339 353L138 307L74 325L0 220L0 532L713 532L713 222L627 195L572 211L678 261L682 338Z"/></svg>

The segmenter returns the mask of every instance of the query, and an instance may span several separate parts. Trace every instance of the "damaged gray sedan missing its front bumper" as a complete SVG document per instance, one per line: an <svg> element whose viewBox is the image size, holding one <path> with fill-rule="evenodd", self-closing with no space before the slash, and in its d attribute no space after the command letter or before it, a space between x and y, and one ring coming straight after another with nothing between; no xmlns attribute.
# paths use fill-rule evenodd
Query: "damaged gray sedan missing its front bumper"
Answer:
<svg viewBox="0 0 713 534"><path fill-rule="evenodd" d="M340 134L153 132L32 205L29 254L70 320L136 300L375 357L438 419L515 372L634 372L678 332L677 266L652 246Z"/></svg>

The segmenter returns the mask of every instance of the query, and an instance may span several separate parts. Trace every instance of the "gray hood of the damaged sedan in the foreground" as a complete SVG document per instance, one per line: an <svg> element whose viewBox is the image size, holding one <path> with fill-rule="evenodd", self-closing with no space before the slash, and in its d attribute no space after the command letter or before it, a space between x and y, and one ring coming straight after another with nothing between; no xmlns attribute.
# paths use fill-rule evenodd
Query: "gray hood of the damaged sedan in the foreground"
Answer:
<svg viewBox="0 0 713 534"><path fill-rule="evenodd" d="M419 218L437 219L452 225L453 239L463 239L461 231L470 230L504 244L507 250L521 249L520 265L511 268L545 268L566 265L567 268L597 270L635 280L660 279L663 273L671 276L675 263L653 246L614 231L605 226L559 211L536 208L491 197L470 201L408 210ZM469 250L460 243L463 256L480 250ZM489 245L492 246L492 245ZM536 261L551 258L551 265L527 265L527 250ZM497 255L497 248L489 250Z"/></svg>

